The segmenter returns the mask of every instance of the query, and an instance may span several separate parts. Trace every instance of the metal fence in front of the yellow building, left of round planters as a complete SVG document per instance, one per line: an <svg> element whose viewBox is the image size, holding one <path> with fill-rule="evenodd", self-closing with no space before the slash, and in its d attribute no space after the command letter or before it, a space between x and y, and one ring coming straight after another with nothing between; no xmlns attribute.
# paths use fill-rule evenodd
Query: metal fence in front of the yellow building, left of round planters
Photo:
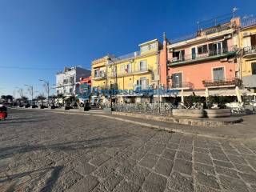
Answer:
<svg viewBox="0 0 256 192"><path fill-rule="evenodd" d="M115 111L122 111L128 113L138 114L158 114L164 116L170 116L174 106L171 103L126 103L119 104L113 103L113 109Z"/></svg>

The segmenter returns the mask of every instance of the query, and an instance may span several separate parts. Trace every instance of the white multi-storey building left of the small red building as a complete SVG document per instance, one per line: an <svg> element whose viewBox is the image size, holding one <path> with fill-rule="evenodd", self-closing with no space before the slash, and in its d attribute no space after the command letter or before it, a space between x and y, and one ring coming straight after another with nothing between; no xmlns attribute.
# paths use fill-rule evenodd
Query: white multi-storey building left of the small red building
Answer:
<svg viewBox="0 0 256 192"><path fill-rule="evenodd" d="M64 67L64 71L56 74L56 94L72 96L77 94L76 85L80 78L90 77L90 70L80 66Z"/></svg>

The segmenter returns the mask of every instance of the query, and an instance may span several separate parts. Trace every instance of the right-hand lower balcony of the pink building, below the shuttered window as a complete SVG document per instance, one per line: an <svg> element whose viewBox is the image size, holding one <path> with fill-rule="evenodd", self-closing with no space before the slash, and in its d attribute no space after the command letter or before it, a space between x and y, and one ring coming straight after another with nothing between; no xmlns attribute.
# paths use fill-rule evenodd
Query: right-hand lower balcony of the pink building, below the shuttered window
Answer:
<svg viewBox="0 0 256 192"><path fill-rule="evenodd" d="M222 80L203 80L202 84L209 88L219 88L219 87L232 87L232 86L242 86L242 80L239 78L224 78Z"/></svg>

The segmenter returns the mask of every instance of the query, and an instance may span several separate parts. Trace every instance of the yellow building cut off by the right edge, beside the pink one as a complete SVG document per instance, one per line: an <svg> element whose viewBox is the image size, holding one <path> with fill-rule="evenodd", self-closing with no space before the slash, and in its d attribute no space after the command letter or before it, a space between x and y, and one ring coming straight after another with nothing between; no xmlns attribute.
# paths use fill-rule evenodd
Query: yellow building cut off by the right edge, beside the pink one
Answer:
<svg viewBox="0 0 256 192"><path fill-rule="evenodd" d="M241 75L244 86L256 88L256 18L242 20L240 46L242 48Z"/></svg>

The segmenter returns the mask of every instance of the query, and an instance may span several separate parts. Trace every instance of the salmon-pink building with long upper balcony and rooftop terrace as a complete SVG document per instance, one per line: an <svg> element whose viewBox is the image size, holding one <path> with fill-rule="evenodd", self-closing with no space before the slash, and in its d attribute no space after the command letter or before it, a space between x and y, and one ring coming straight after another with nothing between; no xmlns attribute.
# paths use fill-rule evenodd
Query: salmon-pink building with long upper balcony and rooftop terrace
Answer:
<svg viewBox="0 0 256 192"><path fill-rule="evenodd" d="M233 18L176 42L168 42L164 35L166 49L160 52L162 85L195 94L206 87L219 90L238 86L239 25L239 18Z"/></svg>

